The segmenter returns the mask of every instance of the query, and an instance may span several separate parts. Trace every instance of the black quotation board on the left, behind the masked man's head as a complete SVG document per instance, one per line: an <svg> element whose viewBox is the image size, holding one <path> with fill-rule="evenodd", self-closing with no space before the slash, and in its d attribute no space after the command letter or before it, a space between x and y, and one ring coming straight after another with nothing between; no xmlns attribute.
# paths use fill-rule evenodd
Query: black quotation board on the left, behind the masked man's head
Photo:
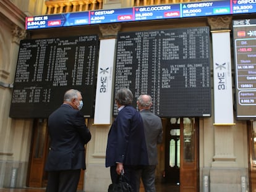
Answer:
<svg viewBox="0 0 256 192"><path fill-rule="evenodd" d="M98 36L20 41L10 117L48 118L70 88L82 92L85 117L92 117Z"/></svg>

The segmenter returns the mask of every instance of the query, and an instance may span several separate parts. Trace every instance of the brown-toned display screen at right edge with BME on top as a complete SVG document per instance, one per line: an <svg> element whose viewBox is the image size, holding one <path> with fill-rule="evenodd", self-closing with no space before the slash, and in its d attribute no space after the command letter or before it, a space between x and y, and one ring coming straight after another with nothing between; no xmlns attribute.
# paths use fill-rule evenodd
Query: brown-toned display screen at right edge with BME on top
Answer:
<svg viewBox="0 0 256 192"><path fill-rule="evenodd" d="M234 20L236 117L256 119L256 19Z"/></svg>

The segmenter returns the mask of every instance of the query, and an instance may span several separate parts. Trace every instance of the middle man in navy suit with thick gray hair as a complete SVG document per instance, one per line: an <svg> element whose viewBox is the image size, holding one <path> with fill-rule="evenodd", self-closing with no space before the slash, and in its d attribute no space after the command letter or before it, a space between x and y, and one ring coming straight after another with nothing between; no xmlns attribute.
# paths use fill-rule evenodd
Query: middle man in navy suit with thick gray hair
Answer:
<svg viewBox="0 0 256 192"><path fill-rule="evenodd" d="M137 192L139 183L135 179L136 174L139 165L148 165L148 154L142 118L130 106L132 99L132 92L127 88L116 93L119 112L108 133L106 167L110 167L112 183L117 183L124 171L125 181Z"/></svg>

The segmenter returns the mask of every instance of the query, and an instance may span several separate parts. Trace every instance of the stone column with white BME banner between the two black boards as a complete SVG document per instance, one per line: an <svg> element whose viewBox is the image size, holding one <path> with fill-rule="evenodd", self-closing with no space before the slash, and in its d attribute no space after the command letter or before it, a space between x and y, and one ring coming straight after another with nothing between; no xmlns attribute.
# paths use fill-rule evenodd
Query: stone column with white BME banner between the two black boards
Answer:
<svg viewBox="0 0 256 192"><path fill-rule="evenodd" d="M98 80L104 80L104 82L101 81L99 84L100 86L98 86L97 82L95 101L95 114L97 113L97 115L95 115L95 119L90 120L89 123L89 128L92 133L92 140L87 144L87 170L85 172L84 191L106 191L106 186L111 183L109 167L105 167L105 157L108 131L113 122L113 115L112 110L109 110L109 106L105 106L106 104L113 106L113 96L109 97L109 94L107 93L108 96L104 98L104 101L97 101L97 99L102 100L102 96L98 96L97 94L101 94L103 92L103 94L106 94L106 92L113 94L112 90L106 91L106 89L108 89L110 86L105 86L103 89L102 86L106 85L106 83L111 83L113 81L112 79L114 78L112 69L114 64L111 65L111 62L114 62L113 52L115 51L115 42L117 33L121 29L121 24L104 24L99 25L99 28L101 31L101 48L97 77ZM106 102L106 104L103 102ZM102 117L102 115L98 115L101 114L102 111L105 111L104 117ZM95 178L97 178L97 180L95 180ZM96 181L100 181L101 184L95 185Z"/></svg>

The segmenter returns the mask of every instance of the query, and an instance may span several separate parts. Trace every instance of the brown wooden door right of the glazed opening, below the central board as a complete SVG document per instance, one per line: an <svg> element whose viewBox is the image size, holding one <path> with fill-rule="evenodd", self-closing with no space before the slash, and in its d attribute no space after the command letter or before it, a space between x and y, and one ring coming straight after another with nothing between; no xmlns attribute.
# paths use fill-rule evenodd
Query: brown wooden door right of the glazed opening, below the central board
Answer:
<svg viewBox="0 0 256 192"><path fill-rule="evenodd" d="M198 119L181 118L180 191L199 191Z"/></svg>

